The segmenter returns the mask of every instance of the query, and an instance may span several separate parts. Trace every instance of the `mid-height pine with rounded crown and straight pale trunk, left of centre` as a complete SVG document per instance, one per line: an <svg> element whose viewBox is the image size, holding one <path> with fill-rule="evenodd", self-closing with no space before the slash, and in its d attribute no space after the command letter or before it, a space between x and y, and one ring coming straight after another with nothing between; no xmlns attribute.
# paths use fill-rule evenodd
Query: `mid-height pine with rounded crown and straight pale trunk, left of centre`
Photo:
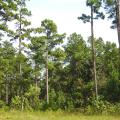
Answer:
<svg viewBox="0 0 120 120"><path fill-rule="evenodd" d="M44 36L44 45L45 45L46 101L47 103L49 103L48 64L51 56L50 51L52 51L56 47L56 45L59 45L63 42L63 38L65 37L65 34L62 34L62 35L58 34L56 24L49 19L45 19L41 22L41 28L44 34L43 36Z"/></svg>

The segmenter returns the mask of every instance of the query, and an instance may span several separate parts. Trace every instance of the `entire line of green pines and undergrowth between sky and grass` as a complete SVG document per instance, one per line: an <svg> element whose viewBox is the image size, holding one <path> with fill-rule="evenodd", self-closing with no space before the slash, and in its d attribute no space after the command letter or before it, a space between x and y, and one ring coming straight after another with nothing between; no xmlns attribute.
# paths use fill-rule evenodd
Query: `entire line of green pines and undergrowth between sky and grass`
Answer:
<svg viewBox="0 0 120 120"><path fill-rule="evenodd" d="M119 0L86 1L91 15L78 15L78 19L91 24L88 41L77 33L67 38L65 33L59 34L50 19L31 27L26 2L0 1L0 106L66 110L118 104ZM101 12L102 7L106 13ZM112 19L111 28L117 28L119 48L94 37L94 20L106 15Z"/></svg>

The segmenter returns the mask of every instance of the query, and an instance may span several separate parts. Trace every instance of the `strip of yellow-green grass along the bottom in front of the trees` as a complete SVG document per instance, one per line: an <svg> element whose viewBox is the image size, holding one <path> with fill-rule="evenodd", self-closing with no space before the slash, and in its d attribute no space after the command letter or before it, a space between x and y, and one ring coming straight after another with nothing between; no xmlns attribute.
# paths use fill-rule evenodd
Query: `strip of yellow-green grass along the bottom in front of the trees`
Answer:
<svg viewBox="0 0 120 120"><path fill-rule="evenodd" d="M0 111L0 120L120 120L120 116L85 116L79 113L63 112L20 112Z"/></svg>

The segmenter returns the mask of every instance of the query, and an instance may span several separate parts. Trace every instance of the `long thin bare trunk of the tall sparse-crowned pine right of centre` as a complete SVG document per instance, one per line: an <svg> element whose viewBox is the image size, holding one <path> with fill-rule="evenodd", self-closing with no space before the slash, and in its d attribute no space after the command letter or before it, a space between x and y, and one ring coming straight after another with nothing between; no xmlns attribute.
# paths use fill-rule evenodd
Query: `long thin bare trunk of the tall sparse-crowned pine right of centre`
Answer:
<svg viewBox="0 0 120 120"><path fill-rule="evenodd" d="M91 5L91 44L92 44L92 60L93 60L93 79L95 84L95 95L96 99L98 98L98 86L97 86L97 77L96 77L96 53L95 53L95 40L94 40L94 29L93 29L93 12L94 8Z"/></svg>

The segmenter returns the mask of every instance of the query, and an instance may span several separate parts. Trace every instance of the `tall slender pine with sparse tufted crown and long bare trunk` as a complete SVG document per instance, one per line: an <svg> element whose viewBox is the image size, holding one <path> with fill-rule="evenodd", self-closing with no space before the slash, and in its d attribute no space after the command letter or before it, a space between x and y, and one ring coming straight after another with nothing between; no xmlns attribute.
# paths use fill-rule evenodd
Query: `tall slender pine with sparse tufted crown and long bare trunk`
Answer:
<svg viewBox="0 0 120 120"><path fill-rule="evenodd" d="M97 83L97 75L96 75L96 53L95 53L95 39L94 39L94 19L102 18L104 19L103 12L99 12L101 7L101 0L87 0L86 5L91 9L91 15L82 14L78 19L82 20L84 23L91 23L91 47L92 47L92 61L93 61L93 80L95 83L95 95L96 99L98 98L98 83ZM94 14L96 17L94 18Z"/></svg>

